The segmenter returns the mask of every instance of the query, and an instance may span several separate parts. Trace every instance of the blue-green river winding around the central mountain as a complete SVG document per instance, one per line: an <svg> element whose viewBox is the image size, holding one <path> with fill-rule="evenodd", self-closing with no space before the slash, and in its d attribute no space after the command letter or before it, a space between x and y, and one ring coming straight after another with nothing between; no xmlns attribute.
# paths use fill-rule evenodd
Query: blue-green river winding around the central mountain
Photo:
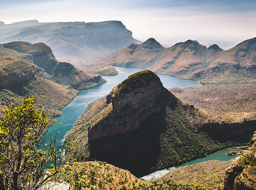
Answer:
<svg viewBox="0 0 256 190"><path fill-rule="evenodd" d="M118 75L102 76L102 78L107 80L107 83L100 84L93 88L80 91L79 94L67 106L65 106L61 110L62 116L55 117L55 119L58 121L57 124L50 126L49 130L44 135L46 142L50 141L50 135L55 135L58 132L56 146L61 145L61 148L64 149L65 145L63 144L63 142L65 140L65 136L67 135L69 130L73 127L77 118L82 115L86 106L90 102L109 94L110 91L117 84L121 83L129 75L144 70L142 68L122 68L122 67L116 67L115 69L119 72ZM185 87L190 87L190 86L201 86L196 81L178 79L178 78L175 78L172 76L167 76L167 75L162 75L162 74L158 74L158 76L161 79L163 86L166 88L172 88L175 86L177 86L179 88L185 88ZM62 122L62 123L59 124L59 122ZM229 151L231 151L231 150L229 150ZM223 154L226 154L226 152L229 152L229 151L224 150ZM214 153L214 154L216 155L219 153ZM223 156L223 154L222 154L222 156L218 156L218 158L216 158L216 157L214 157L214 154L209 155L208 158L206 157L206 158L202 158L202 159L197 159L197 161L194 160L189 163L194 164L196 162L207 161L210 158L221 160L221 159L223 159L222 157L225 157L228 160L231 159L231 157L228 157L226 155ZM182 166L182 165L180 165L180 166ZM178 166L178 167L180 167L180 166ZM145 180L154 180L158 177L161 177L165 173L171 171L172 169L175 169L175 168L172 167L170 169L157 171L157 172L154 172L154 173L148 175L147 177L145 176L143 178Z"/></svg>

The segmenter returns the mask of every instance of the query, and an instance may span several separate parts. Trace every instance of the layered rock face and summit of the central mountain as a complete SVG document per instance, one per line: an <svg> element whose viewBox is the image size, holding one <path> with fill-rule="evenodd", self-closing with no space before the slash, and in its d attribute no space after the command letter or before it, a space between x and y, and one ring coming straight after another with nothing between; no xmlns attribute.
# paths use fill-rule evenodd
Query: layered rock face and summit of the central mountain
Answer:
<svg viewBox="0 0 256 190"><path fill-rule="evenodd" d="M109 114L95 121L88 132L89 140L139 129L147 116L159 111L164 99L172 94L162 86L159 77L146 70L135 73L107 95Z"/></svg>

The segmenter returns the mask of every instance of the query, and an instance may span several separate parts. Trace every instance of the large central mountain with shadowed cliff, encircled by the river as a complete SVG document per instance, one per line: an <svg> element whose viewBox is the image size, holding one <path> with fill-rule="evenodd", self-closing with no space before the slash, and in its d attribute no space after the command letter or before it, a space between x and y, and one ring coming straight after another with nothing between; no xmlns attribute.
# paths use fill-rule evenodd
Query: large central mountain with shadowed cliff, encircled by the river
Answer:
<svg viewBox="0 0 256 190"><path fill-rule="evenodd" d="M227 147L229 140L248 142L254 130L255 121L226 123L181 101L146 70L87 106L67 134L75 149L66 154L143 176Z"/></svg>

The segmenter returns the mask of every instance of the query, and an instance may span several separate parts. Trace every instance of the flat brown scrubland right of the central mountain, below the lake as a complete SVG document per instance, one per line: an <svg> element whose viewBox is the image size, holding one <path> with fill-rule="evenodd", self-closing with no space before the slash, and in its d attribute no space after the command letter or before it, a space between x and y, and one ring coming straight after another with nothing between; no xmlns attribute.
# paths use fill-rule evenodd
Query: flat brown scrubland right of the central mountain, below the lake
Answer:
<svg viewBox="0 0 256 190"><path fill-rule="evenodd" d="M218 115L224 121L256 119L256 84L174 87L169 90L183 101Z"/></svg>

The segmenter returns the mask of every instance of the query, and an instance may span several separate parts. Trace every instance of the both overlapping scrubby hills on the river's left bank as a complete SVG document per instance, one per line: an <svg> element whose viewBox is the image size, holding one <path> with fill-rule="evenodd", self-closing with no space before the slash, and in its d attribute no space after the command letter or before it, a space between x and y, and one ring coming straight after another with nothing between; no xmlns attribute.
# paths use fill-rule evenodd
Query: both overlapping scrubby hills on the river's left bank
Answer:
<svg viewBox="0 0 256 190"><path fill-rule="evenodd" d="M11 42L0 44L0 94L3 105L15 103L24 96L40 98L40 107L49 107L49 113L59 111L77 94L78 90L105 83L100 75L75 68L70 63L58 61L44 43ZM3 114L3 110L0 111Z"/></svg>

